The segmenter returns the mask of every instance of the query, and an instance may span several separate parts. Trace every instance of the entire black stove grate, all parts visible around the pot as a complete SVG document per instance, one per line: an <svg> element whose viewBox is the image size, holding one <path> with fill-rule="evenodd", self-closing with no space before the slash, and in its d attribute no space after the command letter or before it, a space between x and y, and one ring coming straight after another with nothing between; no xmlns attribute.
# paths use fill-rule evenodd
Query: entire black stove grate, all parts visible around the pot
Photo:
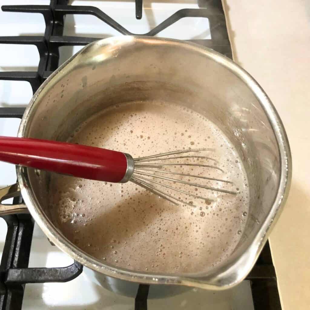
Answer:
<svg viewBox="0 0 310 310"><path fill-rule="evenodd" d="M137 19L142 17L142 0L135 0ZM232 58L221 0L198 0L199 9L182 9L168 17L144 35L154 36L185 17L204 17L209 20L211 39L189 40L210 47ZM58 68L59 47L86 45L98 38L63 36L64 17L68 14L94 15L116 29L120 34L131 33L97 7L71 6L68 0L51 0L50 5L2 6L3 11L41 13L45 20L44 36L0 37L0 43L31 44L38 48L40 62L37 72L0 72L0 80L27 81L35 92L42 82ZM0 108L0 117L21 118L24 108ZM16 197L14 202L21 200ZM30 215L7 215L7 237L0 265L0 310L18 310L22 307L25 283L70 281L82 272L78 262L64 268L28 268L33 234ZM264 247L247 280L251 281L255 310L281 310L277 279L272 264L269 244ZM148 285L140 285L135 309L147 309Z"/></svg>

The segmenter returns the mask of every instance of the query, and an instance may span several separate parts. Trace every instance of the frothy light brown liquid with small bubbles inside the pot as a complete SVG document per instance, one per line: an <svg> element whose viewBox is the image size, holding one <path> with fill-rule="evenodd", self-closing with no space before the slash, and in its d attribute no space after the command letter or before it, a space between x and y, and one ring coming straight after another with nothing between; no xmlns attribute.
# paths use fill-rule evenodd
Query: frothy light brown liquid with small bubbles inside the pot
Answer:
<svg viewBox="0 0 310 310"><path fill-rule="evenodd" d="M79 248L114 266L165 273L201 272L231 255L247 218L247 177L235 148L212 122L177 105L121 104L87 120L70 141L122 151L133 157L212 148L214 151L203 155L213 160L184 160L198 160L224 172L194 166L165 169L230 180L233 184L201 179L195 182L237 192L232 195L170 183L214 200L176 193L187 204L175 206L131 182L112 184L52 174L53 221Z"/></svg>

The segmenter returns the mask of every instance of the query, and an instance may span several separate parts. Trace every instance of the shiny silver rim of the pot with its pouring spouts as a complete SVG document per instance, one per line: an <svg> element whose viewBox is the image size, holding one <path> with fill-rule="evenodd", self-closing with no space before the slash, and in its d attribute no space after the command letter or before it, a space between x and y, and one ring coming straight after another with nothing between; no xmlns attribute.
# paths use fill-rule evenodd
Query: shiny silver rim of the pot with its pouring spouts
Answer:
<svg viewBox="0 0 310 310"><path fill-rule="evenodd" d="M36 200L31 186L28 180L27 168L17 167L17 177L20 185L20 190L22 197L28 207L29 212L33 216L36 223L47 235L47 237L62 251L67 253L70 257L77 260L82 265L91 268L97 272L103 273L110 277L116 277L122 280L139 282L145 284L175 284L175 285L186 285L201 287L210 290L223 290L227 289L233 285L238 284L242 281L246 275L250 272L251 268L263 248L263 245L267 241L268 234L270 232L270 227L275 223L278 218L288 195L290 188L290 180L292 173L292 162L291 153L288 139L286 136L285 129L281 122L281 119L271 103L270 99L259 86L259 84L247 73L244 69L234 63L227 57L209 49L202 47L200 45L184 42L174 39L166 38L153 38L145 36L122 36L113 37L108 39L99 40L90 43L84 47L77 54L73 55L69 60L62 64L54 73L52 73L45 82L39 87L33 98L30 100L28 107L25 110L24 116L21 120L18 136L24 137L27 128L27 123L29 122L30 115L38 104L38 99L44 95L44 89L48 83L52 82L53 78L61 74L61 71L66 69L66 66L74 60L74 58L81 54L87 53L90 48L103 47L111 44L125 45L135 44L135 43L145 43L145 44L170 44L177 45L180 48L190 49L193 52L197 52L215 62L221 64L229 71L233 72L239 79L241 79L253 92L255 97L258 99L261 107L263 108L266 116L268 117L269 123L272 127L274 135L277 139L277 144L279 148L279 156L281 160L280 165L280 182L277 191L276 198L273 202L272 208L267 215L266 220L261 223L259 232L255 238L248 241L246 250L242 250L242 253L236 250L230 259L229 263L219 264L212 270L206 273L195 273L195 274L159 274L159 273L147 273L147 272L136 272L132 270L127 270L123 268L113 267L99 260L91 257L84 251L80 250L77 246L67 240L62 236L56 229L56 227L51 223L47 216L43 213L39 207L38 201Z"/></svg>

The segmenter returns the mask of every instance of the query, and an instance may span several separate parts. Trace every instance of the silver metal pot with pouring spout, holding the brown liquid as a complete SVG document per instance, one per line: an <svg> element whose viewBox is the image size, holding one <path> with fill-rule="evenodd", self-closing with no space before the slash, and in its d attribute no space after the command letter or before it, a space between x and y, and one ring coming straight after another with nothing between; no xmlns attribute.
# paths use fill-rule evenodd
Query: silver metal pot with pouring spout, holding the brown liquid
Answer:
<svg viewBox="0 0 310 310"><path fill-rule="evenodd" d="M213 121L243 159L250 210L233 254L211 271L154 274L115 268L91 257L52 224L49 173L17 167L25 205L1 205L1 213L29 210L47 237L105 283L148 283L222 290L242 281L253 267L286 201L292 172L288 140L268 96L246 71L210 49L177 40L130 37L91 43L40 86L22 118L19 137L66 140L86 118L111 104L161 99L189 107ZM111 278L112 277L112 278ZM127 281L127 282L126 282ZM102 281L100 281L102 283Z"/></svg>

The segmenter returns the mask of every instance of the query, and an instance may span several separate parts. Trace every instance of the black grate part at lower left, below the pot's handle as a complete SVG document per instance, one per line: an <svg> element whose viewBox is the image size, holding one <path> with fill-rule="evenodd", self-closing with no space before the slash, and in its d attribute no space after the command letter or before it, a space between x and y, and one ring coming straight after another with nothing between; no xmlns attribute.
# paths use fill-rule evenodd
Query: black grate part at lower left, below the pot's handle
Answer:
<svg viewBox="0 0 310 310"><path fill-rule="evenodd" d="M21 197L14 199L14 203L21 202ZM25 283L65 282L82 272L78 262L62 268L28 268L34 224L31 215L5 215L3 219L7 236L0 264L1 310L21 309Z"/></svg>

